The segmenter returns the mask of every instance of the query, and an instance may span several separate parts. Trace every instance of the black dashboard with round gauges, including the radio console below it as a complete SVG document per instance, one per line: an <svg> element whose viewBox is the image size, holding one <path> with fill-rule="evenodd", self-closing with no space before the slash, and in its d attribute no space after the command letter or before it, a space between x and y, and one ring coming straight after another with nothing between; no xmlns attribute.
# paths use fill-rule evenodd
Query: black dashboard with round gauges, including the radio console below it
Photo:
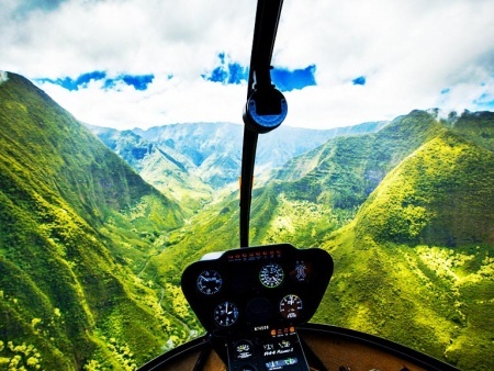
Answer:
<svg viewBox="0 0 494 371"><path fill-rule="evenodd" d="M308 370L296 326L316 312L333 268L323 249L258 246L204 256L184 270L181 285L225 346L229 370Z"/></svg>

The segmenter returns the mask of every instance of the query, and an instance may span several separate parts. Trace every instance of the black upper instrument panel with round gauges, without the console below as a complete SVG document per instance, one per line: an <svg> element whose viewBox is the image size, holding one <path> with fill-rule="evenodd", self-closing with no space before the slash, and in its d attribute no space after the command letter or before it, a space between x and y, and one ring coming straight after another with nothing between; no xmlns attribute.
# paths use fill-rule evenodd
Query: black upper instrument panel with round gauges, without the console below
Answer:
<svg viewBox="0 0 494 371"><path fill-rule="evenodd" d="M318 248L289 244L233 249L189 266L182 291L204 328L215 335L289 327L314 315L333 274Z"/></svg>

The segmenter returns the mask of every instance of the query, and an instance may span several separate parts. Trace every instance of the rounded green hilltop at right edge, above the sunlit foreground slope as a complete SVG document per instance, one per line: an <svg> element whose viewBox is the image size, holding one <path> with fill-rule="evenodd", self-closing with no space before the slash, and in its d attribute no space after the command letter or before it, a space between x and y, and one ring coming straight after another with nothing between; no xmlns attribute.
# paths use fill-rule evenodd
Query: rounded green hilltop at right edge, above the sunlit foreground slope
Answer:
<svg viewBox="0 0 494 371"><path fill-rule="evenodd" d="M377 240L494 244L494 153L456 134L427 142L392 170L357 215Z"/></svg>

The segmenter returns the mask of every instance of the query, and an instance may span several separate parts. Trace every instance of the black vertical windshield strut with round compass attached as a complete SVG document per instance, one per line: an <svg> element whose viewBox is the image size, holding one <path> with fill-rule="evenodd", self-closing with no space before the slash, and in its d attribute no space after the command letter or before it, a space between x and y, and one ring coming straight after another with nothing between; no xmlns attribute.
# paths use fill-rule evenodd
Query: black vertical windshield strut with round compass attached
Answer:
<svg viewBox="0 0 494 371"><path fill-rule="evenodd" d="M240 247L249 246L250 201L257 138L287 116L287 101L271 83L271 57L283 0L258 0L250 55L240 178Z"/></svg>

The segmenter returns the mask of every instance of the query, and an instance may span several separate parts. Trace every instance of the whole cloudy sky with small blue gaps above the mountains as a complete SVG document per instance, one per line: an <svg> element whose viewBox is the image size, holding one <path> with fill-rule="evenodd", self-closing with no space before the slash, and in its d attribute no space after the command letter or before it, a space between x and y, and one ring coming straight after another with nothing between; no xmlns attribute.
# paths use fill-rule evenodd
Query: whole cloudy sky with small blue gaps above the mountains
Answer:
<svg viewBox="0 0 494 371"><path fill-rule="evenodd" d="M77 119L242 123L255 0L0 0L0 70ZM493 0L284 0L272 64L285 124L494 110Z"/></svg>

